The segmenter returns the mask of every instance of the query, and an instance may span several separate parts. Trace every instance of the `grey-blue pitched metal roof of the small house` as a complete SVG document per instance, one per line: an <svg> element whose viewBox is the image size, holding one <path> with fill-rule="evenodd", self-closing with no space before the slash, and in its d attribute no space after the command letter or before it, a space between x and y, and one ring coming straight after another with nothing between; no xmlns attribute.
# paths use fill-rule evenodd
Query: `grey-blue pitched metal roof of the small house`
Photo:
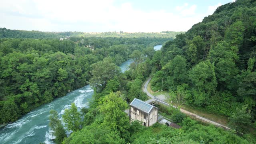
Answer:
<svg viewBox="0 0 256 144"><path fill-rule="evenodd" d="M142 110L143 112L146 112L148 114L154 107L154 106L147 104L146 102L143 102L142 100L139 100L137 98L134 98L134 100L130 103L130 106L138 108L139 110Z"/></svg>

